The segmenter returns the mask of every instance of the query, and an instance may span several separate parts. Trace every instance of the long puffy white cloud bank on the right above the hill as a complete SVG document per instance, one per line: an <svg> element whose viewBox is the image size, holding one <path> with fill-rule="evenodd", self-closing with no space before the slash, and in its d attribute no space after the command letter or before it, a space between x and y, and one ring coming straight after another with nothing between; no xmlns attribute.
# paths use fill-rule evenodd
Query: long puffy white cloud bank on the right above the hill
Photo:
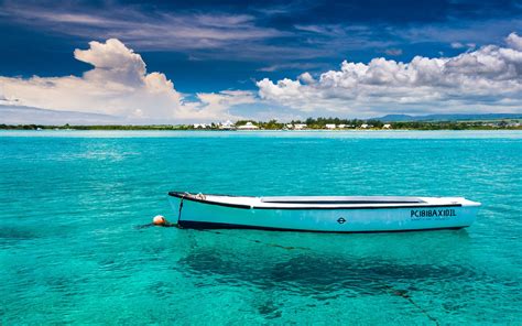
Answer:
<svg viewBox="0 0 522 326"><path fill-rule="evenodd" d="M317 79L303 74L257 85L261 98L305 112L521 111L522 37L511 33L505 41L507 47L487 45L455 57L345 61Z"/></svg>

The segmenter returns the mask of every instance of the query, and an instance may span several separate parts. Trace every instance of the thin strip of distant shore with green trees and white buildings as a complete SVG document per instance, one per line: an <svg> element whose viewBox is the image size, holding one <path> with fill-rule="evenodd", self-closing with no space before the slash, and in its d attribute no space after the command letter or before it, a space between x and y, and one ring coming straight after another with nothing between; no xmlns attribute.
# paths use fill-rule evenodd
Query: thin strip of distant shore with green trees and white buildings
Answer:
<svg viewBox="0 0 522 326"><path fill-rule="evenodd" d="M360 120L360 119L339 119L339 118L308 118L304 121L293 120L291 122L254 121L240 120L235 126L244 126L252 122L260 130L289 130L295 126L305 126L300 129L306 130L522 130L522 121L518 119L511 120L467 120L467 121L396 121L383 122L380 120ZM329 127L328 127L328 126ZM335 128L331 126L335 124ZM205 127L196 127L195 124L94 124L94 126L44 126L44 124L0 124L0 130L222 130L219 123L208 123ZM229 128L227 130L230 130Z"/></svg>

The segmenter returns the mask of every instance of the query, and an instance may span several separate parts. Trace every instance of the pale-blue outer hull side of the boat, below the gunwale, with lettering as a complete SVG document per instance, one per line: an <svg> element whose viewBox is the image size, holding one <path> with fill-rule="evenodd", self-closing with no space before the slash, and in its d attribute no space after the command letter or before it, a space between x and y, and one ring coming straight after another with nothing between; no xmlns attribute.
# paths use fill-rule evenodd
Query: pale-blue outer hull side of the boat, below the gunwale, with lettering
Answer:
<svg viewBox="0 0 522 326"><path fill-rule="evenodd" d="M263 229L315 232L385 232L458 229L470 226L479 206L379 208L238 207L170 197L177 225L196 229Z"/></svg>

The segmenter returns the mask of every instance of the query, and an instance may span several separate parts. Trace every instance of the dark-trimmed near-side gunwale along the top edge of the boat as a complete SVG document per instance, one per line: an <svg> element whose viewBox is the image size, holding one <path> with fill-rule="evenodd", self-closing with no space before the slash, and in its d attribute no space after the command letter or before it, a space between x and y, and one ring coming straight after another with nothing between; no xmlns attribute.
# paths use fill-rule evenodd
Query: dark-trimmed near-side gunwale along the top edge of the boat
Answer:
<svg viewBox="0 0 522 326"><path fill-rule="evenodd" d="M183 200L191 200L207 205L215 205L215 206L224 206L230 208L239 208L239 209L293 209L293 210L311 210L311 209L393 209L393 208L433 208L433 207L461 207L463 204L455 203L455 204L428 204L428 203L412 203L410 205L396 205L396 206L303 206L303 207L295 207L295 206L250 206L250 205L242 205L242 204L231 204L231 203L221 203L221 202L214 202L208 199L195 198L192 196L187 196L186 192L168 192L168 195L172 197L181 198ZM249 196L232 196L232 195L217 195L217 194L205 194L209 196L224 196L224 197L249 197ZM250 197L254 198L254 197Z"/></svg>

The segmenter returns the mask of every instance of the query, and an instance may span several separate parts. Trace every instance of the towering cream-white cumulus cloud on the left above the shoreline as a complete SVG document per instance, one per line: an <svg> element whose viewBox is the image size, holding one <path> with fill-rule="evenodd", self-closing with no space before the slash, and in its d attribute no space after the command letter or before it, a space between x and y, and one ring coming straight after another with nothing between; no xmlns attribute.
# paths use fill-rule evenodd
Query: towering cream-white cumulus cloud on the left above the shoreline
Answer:
<svg viewBox="0 0 522 326"><path fill-rule="evenodd" d="M94 68L80 77L0 77L1 96L21 106L155 122L229 117L230 106L253 100L251 93L230 90L184 100L164 74L148 73L142 57L116 39L90 42L74 56Z"/></svg>

